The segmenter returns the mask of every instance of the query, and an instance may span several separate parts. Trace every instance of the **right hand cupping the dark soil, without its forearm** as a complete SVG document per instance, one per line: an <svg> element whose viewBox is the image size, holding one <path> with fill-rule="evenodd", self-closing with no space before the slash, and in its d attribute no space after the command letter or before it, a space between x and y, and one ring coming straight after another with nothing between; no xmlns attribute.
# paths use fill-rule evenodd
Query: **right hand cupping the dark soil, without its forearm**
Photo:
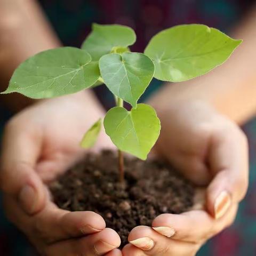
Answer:
<svg viewBox="0 0 256 256"><path fill-rule="evenodd" d="M207 186L206 209L159 215L136 227L124 256L194 256L205 241L233 223L248 183L247 140L233 122L203 102L158 110L156 150L196 185Z"/></svg>

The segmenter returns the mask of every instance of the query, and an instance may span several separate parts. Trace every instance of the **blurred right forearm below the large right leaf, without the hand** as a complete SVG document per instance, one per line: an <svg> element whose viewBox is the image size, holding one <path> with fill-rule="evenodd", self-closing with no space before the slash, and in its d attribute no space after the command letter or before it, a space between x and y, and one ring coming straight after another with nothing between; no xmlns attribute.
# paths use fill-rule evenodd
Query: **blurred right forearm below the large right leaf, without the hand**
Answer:
<svg viewBox="0 0 256 256"><path fill-rule="evenodd" d="M203 100L237 123L243 123L256 111L255 9L234 31L243 43L230 59L209 74L191 81L166 85L151 102L163 108L170 102Z"/></svg>

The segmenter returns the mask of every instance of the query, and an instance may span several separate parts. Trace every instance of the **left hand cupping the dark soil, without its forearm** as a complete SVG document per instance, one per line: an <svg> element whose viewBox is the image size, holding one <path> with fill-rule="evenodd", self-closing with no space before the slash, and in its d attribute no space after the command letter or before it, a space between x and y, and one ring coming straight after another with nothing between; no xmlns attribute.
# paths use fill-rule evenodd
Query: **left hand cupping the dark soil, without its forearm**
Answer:
<svg viewBox="0 0 256 256"><path fill-rule="evenodd" d="M115 250L119 236L100 215L59 209L46 187L83 155L79 141L101 116L93 96L83 92L39 102L6 126L0 177L5 211L42 255L121 254ZM102 134L96 149L111 145Z"/></svg>

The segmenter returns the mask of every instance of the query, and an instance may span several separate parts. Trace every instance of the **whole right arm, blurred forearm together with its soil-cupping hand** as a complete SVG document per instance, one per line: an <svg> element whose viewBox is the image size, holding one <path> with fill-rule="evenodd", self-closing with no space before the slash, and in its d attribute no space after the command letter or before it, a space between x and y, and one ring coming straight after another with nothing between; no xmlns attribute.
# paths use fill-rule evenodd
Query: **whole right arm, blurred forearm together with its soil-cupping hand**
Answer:
<svg viewBox="0 0 256 256"><path fill-rule="evenodd" d="M205 207L159 215L153 229L134 228L124 255L194 256L207 239L233 223L248 185L248 146L243 132L222 114L242 123L256 110L255 21L251 14L237 28L235 37L244 43L225 65L163 86L151 99L162 125L155 149L193 183L207 186Z"/></svg>

